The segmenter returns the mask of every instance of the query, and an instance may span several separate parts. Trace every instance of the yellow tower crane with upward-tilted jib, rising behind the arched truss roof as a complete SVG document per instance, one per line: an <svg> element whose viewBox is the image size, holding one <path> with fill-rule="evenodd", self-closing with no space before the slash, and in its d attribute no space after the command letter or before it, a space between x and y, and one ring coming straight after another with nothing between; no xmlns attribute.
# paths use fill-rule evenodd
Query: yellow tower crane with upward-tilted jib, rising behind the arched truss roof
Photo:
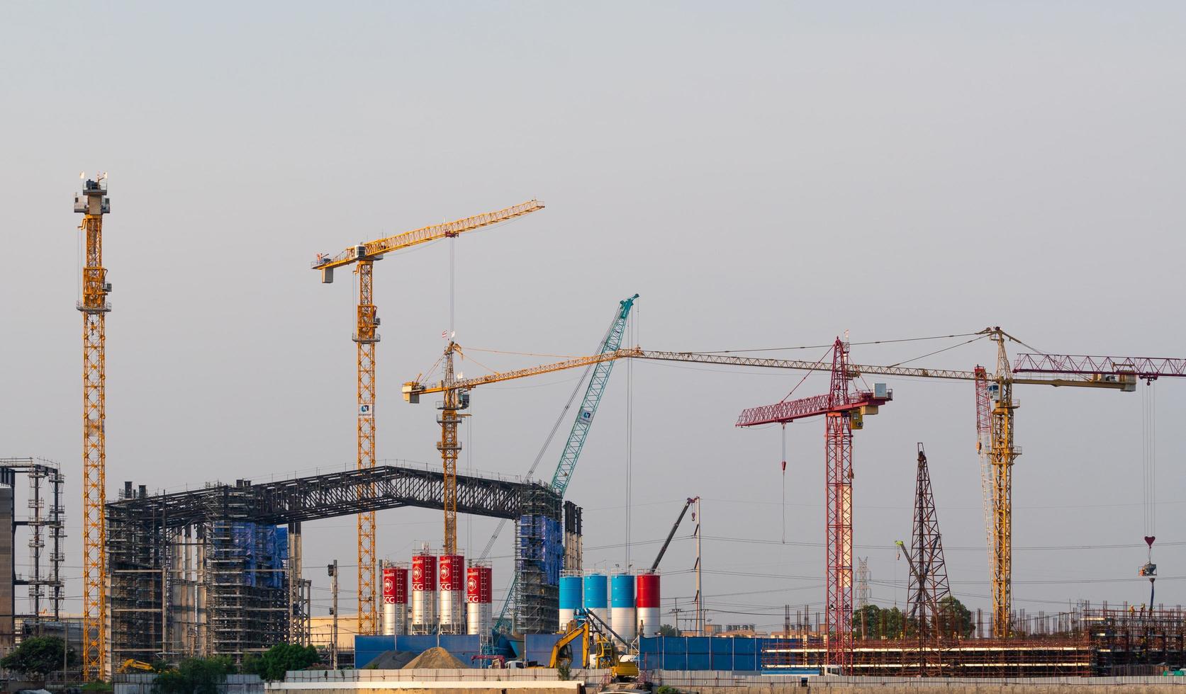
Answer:
<svg viewBox="0 0 1186 694"><path fill-rule="evenodd" d="M504 210L466 217L455 221L433 224L413 231L350 246L336 256L318 255L313 269L321 271L321 282L333 282L333 270L356 265L358 275L357 343L358 365L358 468L375 467L375 343L378 342L380 320L372 295L375 261L384 255L441 238L453 238L492 224L499 224L542 210L543 203L528 200ZM454 454L455 460L455 454ZM364 489L361 494L372 494ZM375 512L358 514L358 634L376 634L375 613Z"/></svg>

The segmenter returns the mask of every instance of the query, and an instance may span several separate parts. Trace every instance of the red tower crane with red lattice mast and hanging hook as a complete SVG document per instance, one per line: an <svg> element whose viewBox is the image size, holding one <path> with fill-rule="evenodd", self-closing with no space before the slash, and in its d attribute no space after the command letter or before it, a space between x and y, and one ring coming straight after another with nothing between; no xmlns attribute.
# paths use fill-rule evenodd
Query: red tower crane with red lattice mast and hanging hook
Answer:
<svg viewBox="0 0 1186 694"><path fill-rule="evenodd" d="M831 348L831 387L825 394L783 400L741 412L738 426L786 424L824 416L827 494L827 634L828 664L848 667L853 658L853 430L866 415L893 399L881 385L873 391L850 387L848 342L836 338Z"/></svg>

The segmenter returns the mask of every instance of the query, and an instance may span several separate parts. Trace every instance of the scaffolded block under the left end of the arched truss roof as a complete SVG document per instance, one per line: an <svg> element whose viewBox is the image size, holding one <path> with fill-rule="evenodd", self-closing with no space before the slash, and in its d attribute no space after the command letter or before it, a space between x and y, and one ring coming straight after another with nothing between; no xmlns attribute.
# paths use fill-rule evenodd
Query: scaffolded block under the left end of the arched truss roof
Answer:
<svg viewBox="0 0 1186 694"><path fill-rule="evenodd" d="M308 591L291 590L288 573L299 538L287 526L251 520L250 482L221 491L204 496L206 513L197 519L171 520L168 505L145 503L145 487L134 491L130 482L108 506L115 662L195 655L242 661L276 643L307 642ZM302 616L294 631L292 613Z"/></svg>

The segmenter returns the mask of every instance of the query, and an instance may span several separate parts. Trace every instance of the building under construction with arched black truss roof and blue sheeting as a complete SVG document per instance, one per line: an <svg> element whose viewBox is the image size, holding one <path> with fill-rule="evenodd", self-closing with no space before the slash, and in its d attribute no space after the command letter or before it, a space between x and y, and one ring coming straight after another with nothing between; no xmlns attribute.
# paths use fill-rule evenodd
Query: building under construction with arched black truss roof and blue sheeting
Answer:
<svg viewBox="0 0 1186 694"><path fill-rule="evenodd" d="M519 613L524 625L555 630L559 495L543 484L470 475L458 475L457 488L459 512L516 521ZM127 482L107 505L113 661L238 660L276 643L307 643L301 523L404 506L440 509L442 489L440 470L396 465L155 495Z"/></svg>

